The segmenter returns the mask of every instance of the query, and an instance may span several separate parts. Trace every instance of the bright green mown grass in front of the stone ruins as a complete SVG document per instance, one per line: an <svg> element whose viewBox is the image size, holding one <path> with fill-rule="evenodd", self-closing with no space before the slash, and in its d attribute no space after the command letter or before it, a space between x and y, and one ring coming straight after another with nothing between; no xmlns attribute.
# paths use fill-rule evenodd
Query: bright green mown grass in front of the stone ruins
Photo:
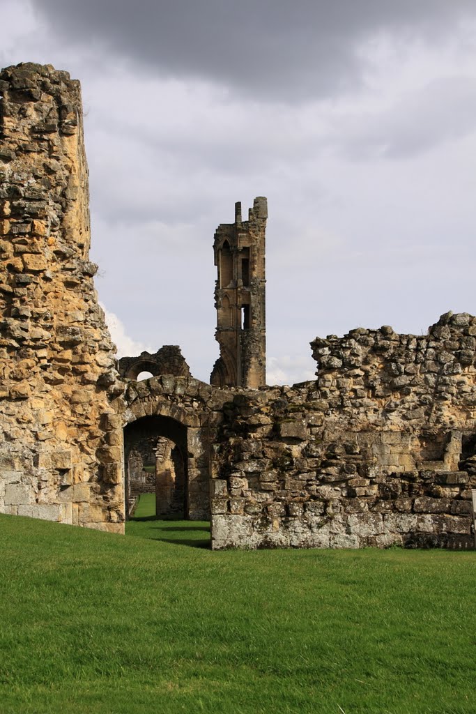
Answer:
<svg viewBox="0 0 476 714"><path fill-rule="evenodd" d="M1 714L476 712L476 553L127 531L0 516Z"/></svg>

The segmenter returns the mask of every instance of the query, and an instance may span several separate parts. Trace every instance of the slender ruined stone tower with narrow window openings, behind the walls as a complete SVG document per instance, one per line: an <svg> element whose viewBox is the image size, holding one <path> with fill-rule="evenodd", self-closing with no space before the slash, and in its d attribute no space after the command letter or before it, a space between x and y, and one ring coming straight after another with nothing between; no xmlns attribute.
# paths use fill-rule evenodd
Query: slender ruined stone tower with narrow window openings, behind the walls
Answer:
<svg viewBox="0 0 476 714"><path fill-rule="evenodd" d="M266 383L266 218L268 201L258 196L248 221L241 220L241 203L236 203L235 223L221 223L215 233L220 357L211 373L214 386L257 388Z"/></svg>

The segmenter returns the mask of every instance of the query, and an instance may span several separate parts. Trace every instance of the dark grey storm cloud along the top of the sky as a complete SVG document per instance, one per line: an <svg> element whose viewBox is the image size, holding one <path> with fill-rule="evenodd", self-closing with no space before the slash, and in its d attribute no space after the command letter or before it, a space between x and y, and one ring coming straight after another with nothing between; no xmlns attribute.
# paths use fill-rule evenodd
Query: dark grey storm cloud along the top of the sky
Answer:
<svg viewBox="0 0 476 714"><path fill-rule="evenodd" d="M34 0L54 31L144 71L263 99L328 96L362 81L378 34L437 42L474 19L474 0Z"/></svg>

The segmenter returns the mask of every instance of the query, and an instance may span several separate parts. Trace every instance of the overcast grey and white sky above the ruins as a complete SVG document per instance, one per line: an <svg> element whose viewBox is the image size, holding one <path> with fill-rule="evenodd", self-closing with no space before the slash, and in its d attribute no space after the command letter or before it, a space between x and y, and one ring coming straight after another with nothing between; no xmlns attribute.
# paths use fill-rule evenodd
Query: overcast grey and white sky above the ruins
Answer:
<svg viewBox="0 0 476 714"><path fill-rule="evenodd" d="M309 341L476 313L475 0L0 0L0 64L83 88L119 353L208 381L213 233L268 196L268 383Z"/></svg>

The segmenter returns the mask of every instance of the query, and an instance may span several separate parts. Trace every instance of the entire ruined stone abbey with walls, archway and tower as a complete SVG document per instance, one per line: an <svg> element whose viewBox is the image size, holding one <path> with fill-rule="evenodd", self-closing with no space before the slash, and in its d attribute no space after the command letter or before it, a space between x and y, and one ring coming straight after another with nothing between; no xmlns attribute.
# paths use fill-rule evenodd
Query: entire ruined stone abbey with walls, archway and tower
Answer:
<svg viewBox="0 0 476 714"><path fill-rule="evenodd" d="M79 82L1 71L0 139L0 513L123 533L154 491L158 515L210 519L216 549L473 546L475 317L315 338L315 381L265 386L259 197L215 234L211 383L177 346L117 361Z"/></svg>

